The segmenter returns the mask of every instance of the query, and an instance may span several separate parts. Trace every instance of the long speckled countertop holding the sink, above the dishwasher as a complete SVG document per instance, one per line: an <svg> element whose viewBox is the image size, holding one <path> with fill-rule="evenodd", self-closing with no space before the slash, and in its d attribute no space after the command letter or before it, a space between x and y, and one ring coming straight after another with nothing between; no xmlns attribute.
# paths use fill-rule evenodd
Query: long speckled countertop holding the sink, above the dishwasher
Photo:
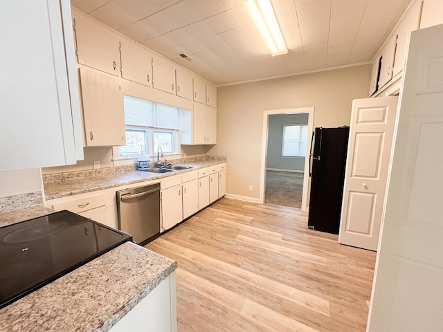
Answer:
<svg viewBox="0 0 443 332"><path fill-rule="evenodd" d="M47 176L46 181L44 176L44 195L46 200L58 199L61 197L84 194L96 190L105 190L122 185L160 180L161 178L168 176L184 174L186 172L192 172L196 169L220 163L226 163L226 158L218 157L202 161L193 161L191 163L180 163L180 165L186 165L192 168L160 174L138 171L136 170L136 167L133 166L132 168L129 168L127 172L122 173L100 174L98 172L98 175L96 175L93 174L92 171L73 172L66 176L60 174L57 178L55 178L55 176ZM51 182L48 181L48 178Z"/></svg>

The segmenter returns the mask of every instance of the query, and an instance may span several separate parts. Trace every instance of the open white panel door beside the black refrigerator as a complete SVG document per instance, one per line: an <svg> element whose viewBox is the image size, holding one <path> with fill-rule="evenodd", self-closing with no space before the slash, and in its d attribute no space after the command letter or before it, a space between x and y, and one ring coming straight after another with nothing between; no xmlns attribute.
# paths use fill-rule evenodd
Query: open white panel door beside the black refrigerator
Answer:
<svg viewBox="0 0 443 332"><path fill-rule="evenodd" d="M377 250L397 97L352 102L338 241Z"/></svg>

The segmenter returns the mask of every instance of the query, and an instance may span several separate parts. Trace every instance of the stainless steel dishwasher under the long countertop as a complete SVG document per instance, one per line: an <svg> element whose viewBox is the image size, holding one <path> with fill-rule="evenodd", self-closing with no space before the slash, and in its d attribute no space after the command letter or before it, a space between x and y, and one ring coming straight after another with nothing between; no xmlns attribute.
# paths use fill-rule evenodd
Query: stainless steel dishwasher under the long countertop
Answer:
<svg viewBox="0 0 443 332"><path fill-rule="evenodd" d="M118 229L144 246L160 234L160 183L117 192Z"/></svg>

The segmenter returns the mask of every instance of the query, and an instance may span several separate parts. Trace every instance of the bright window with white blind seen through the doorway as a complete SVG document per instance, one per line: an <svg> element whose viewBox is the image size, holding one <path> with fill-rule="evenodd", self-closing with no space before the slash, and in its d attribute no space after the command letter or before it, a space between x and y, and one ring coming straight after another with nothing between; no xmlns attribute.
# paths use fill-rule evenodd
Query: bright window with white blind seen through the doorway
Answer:
<svg viewBox="0 0 443 332"><path fill-rule="evenodd" d="M307 124L284 124L282 156L304 157L306 155Z"/></svg>

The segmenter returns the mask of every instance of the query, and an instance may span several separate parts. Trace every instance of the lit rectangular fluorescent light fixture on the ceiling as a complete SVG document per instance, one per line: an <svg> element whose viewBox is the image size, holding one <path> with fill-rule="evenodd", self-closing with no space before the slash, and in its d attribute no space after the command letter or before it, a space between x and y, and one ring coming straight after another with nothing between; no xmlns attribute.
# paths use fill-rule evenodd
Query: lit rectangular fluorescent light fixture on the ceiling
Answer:
<svg viewBox="0 0 443 332"><path fill-rule="evenodd" d="M243 3L271 55L288 53L271 0L243 0Z"/></svg>

